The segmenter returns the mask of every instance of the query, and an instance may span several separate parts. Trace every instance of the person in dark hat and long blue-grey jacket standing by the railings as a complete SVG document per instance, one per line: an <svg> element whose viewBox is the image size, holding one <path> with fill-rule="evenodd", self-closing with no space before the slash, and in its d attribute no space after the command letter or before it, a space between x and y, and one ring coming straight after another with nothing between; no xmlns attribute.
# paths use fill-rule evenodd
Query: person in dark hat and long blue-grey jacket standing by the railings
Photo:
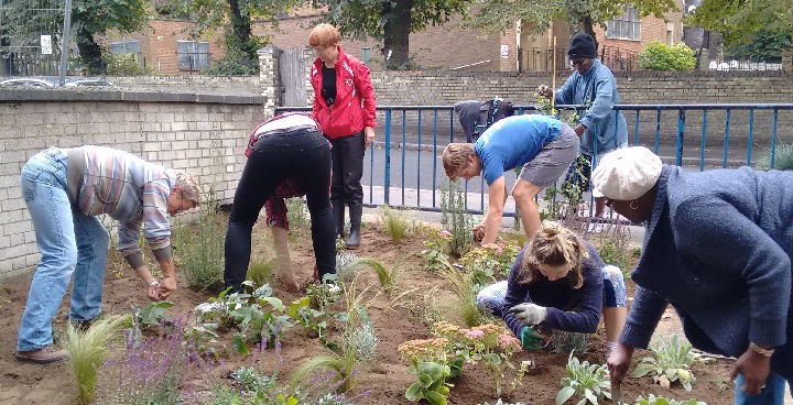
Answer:
<svg viewBox="0 0 793 405"><path fill-rule="evenodd" d="M573 75L564 86L554 91L540 86L537 94L555 97L556 105L587 106L576 134L582 139L580 154L567 172L566 180L574 180L582 191L590 189L589 175L593 164L602 154L628 144L628 127L620 111L613 110L619 103L617 80L611 70L597 58L595 40L586 33L573 35L567 45ZM580 112L579 112L580 113ZM605 210L604 199L595 199L595 217Z"/></svg>

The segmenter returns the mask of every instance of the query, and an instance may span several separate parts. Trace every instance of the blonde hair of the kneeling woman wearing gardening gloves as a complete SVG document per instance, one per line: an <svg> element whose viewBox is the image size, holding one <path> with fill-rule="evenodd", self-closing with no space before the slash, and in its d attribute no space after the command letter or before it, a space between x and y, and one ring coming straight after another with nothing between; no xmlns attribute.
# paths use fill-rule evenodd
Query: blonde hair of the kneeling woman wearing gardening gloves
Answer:
<svg viewBox="0 0 793 405"><path fill-rule="evenodd" d="M518 274L519 283L530 284L543 277L540 273L541 263L551 266L568 264L571 271L565 280L573 288L580 288L584 285L582 270L587 258L589 253L586 245L572 230L558 222L544 221L523 253L523 263Z"/></svg>

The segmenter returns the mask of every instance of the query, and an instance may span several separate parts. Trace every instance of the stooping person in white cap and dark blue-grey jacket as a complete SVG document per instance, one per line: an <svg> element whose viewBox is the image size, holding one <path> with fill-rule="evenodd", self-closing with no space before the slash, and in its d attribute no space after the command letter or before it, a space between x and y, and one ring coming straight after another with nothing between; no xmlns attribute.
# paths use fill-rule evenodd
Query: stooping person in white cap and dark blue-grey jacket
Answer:
<svg viewBox="0 0 793 405"><path fill-rule="evenodd" d="M781 405L793 382L793 173L686 173L636 146L605 155L593 185L645 228L611 377L624 377L633 349L648 347L672 305L695 348L738 359L735 404Z"/></svg>

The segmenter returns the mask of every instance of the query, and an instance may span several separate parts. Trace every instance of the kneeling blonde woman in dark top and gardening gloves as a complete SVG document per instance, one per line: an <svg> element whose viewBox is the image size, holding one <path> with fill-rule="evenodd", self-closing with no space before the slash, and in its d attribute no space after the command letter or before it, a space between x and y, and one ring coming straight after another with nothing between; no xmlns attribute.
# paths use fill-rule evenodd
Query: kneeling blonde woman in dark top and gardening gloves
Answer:
<svg viewBox="0 0 793 405"><path fill-rule="evenodd" d="M557 222L545 221L515 258L506 282L484 288L477 304L500 316L526 346L529 327L594 333L604 315L606 358L626 321L622 272Z"/></svg>

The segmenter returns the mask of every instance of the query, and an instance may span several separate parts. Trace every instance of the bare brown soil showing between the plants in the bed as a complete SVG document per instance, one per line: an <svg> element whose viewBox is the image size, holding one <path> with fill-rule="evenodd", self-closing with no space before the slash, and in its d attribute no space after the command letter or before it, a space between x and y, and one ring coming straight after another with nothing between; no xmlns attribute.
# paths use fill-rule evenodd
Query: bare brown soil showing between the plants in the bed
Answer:
<svg viewBox="0 0 793 405"><path fill-rule="evenodd" d="M370 218L372 219L372 218ZM311 238L306 230L293 230L291 241L292 258L301 282L306 283L312 277L313 252ZM269 240L269 230L258 225L254 228L254 251L264 250ZM357 374L358 384L356 393L365 393L356 399L356 403L366 404L406 404L405 390L415 381L413 375L404 372L406 362L397 351L397 347L411 339L430 338L427 325L421 319L420 308L424 305L426 293L434 286L441 288L433 297L438 302L445 302L452 296L450 288L446 282L436 275L423 270L425 259L422 255L424 245L421 234L412 234L395 244L390 237L373 220L368 222L362 232L362 243L356 253L359 258L372 258L392 263L404 261L411 269L398 286L398 292L416 288L405 295L399 303L390 303L385 295L380 295L371 302L369 314L373 321L376 332L380 339L377 361ZM111 258L112 253L111 253ZM30 276L7 280L0 286L0 404L74 404L76 392L73 376L65 363L54 365L35 365L20 363L13 358L17 332L24 309ZM362 276L362 285L377 284L377 278L367 274ZM102 310L109 314L121 314L130 310L132 304L144 305L145 289L142 282L117 260L108 261L108 270L105 281L105 293L102 298ZM177 305L169 310L170 315L184 315L197 304L205 302L213 294L209 292L193 292L184 287L172 296ZM289 303L300 298L302 294L284 291L278 282L274 283L275 296ZM629 294L634 289L633 284L628 282ZM56 332L62 331L66 325L68 315L68 295L61 305L54 328ZM449 311L449 319L454 321L454 314ZM458 325L461 325L457 321ZM669 336L680 333L677 319L672 313L661 321L659 333ZM57 335L56 335L57 336ZM605 363L604 359L605 333L602 328L590 339L589 349L582 360L590 363ZM206 385L205 380L221 379L230 370L240 365L256 365L264 374L271 373L273 368L279 368L280 375L284 379L297 364L316 354L323 353L318 339L309 338L303 328L296 327L286 331L282 342L280 354L270 349L260 353L241 357L230 354L222 364L216 365L208 373L191 375L188 384L194 387ZM231 351L231 350L229 350ZM634 359L648 355L649 352L637 351ZM554 354L546 351L523 352L518 355L515 363L521 360L534 360L539 365L544 366L541 375L525 376L522 385L514 391L507 388L502 395L506 401L521 402L524 404L552 405L556 394L561 390L560 380L566 375L565 364L567 354ZM696 384L688 393L677 385L664 388L655 384L652 377L628 379L622 386L626 399L633 401L638 395L648 394L663 395L667 398L692 398L695 397L710 405L729 404L732 397L731 384L725 383L730 369L727 360L716 360L708 364L694 366ZM484 364L465 365L463 375L454 381L449 403L452 404L479 404L489 402L495 404L495 386L488 377ZM573 403L572 401L569 403ZM607 402L608 403L608 402Z"/></svg>

